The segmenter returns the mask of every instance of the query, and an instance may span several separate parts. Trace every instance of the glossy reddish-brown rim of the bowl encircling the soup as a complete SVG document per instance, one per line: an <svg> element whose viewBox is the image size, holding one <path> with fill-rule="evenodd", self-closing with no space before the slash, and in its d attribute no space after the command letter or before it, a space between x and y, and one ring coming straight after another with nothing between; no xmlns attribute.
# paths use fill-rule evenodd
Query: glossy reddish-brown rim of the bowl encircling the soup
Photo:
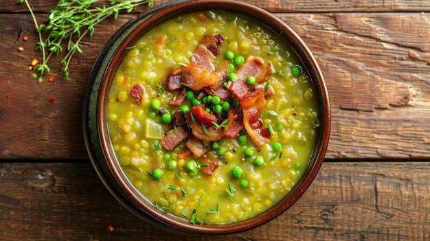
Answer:
<svg viewBox="0 0 430 241"><path fill-rule="evenodd" d="M226 6L228 8L226 8ZM299 56L302 62L304 62L310 78L313 80L313 85L317 91L317 95L320 96L319 101L321 101L319 104L321 127L318 130L318 139L316 141L313 154L310 157L308 168L306 169L306 172L300 179L299 183L293 187L293 190L291 190L289 194L282 198L282 200L280 200L277 204L273 205L273 207L269 208L267 211L264 211L264 213L250 218L249 220L225 225L191 225L187 220L181 220L180 218L176 218L158 211L152 205L152 203L144 200L142 194L139 194L139 192L135 190L135 187L133 187L133 185L128 182L126 176L117 163L111 150L109 131L107 130L106 123L104 122L104 117L106 116L106 96L109 91L112 77L115 74L120 61L122 58L124 58L127 52L125 47L132 46L133 43L143 36L143 34L145 34L148 30L150 30L152 27L155 27L156 25L159 25L159 23L166 21L167 19L171 19L174 16L188 12L197 12L203 10L221 10L227 12L237 12L238 14L251 16L254 20L259 21L260 24L266 25L269 29L273 30L273 32L282 33L283 38L285 38L288 43L293 45L292 49L296 51L296 54ZM324 161L330 133L330 107L326 84L321 74L321 70L317 65L317 61L315 60L313 54L311 54L306 44L291 29L291 27L288 27L286 23L277 17L253 5L238 1L186 1L168 5L166 8L162 8L158 12L150 14L150 16L142 15L139 17L139 19L142 18L144 18L142 23L139 23L138 25L128 25L128 27L134 27L134 29L132 32L130 32L130 34L128 34L126 38L124 38L124 41L120 43L119 47L115 51L115 54L109 61L108 67L106 71L104 71L102 82L100 84L100 91L98 94L97 124L99 128L98 135L100 138L100 145L102 146L104 159L109 166L109 170L115 177L115 181L117 181L115 186L119 184L120 187L122 187L126 192L126 194L124 194L123 192L119 191L121 196L131 205L133 205L137 211L144 212L144 216L153 218L159 225L163 227L170 227L170 229L176 231L185 231L188 233L237 233L263 225L264 223L267 223L273 218L276 218L282 214L286 209L291 207L291 205L293 205L298 200L298 198L302 196L302 194L304 194L310 183L312 183L313 179L315 179L315 176L317 175L317 172ZM139 19L137 19L135 23L139 22Z"/></svg>

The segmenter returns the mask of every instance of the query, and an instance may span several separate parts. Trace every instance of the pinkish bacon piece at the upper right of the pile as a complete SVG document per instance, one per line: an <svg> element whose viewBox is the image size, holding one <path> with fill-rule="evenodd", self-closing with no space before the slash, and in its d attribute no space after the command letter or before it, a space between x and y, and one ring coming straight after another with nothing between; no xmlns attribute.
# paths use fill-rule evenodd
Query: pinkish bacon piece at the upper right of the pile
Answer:
<svg viewBox="0 0 430 241"><path fill-rule="evenodd" d="M247 60L236 69L238 79L246 80L248 76L256 78L256 84L267 82L273 73L271 62L264 63L262 58L248 56Z"/></svg>

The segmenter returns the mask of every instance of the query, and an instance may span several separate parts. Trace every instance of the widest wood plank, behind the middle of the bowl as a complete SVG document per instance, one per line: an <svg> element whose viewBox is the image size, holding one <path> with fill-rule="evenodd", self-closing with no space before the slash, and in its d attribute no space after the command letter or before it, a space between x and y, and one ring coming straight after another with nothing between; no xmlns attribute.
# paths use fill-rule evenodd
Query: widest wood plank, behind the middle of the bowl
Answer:
<svg viewBox="0 0 430 241"><path fill-rule="evenodd" d="M30 16L0 15L0 159L86 159L82 95L100 49L121 25L108 20L82 43L69 80L52 58L54 83L26 70L40 52ZM315 54L332 109L329 158L430 157L428 13L277 14ZM4 31L3 31L4 30ZM7 31L6 31L7 30ZM23 36L30 36L24 42ZM24 51L18 51L18 47ZM48 97L56 100L48 102ZM32 145L25 145L32 143Z"/></svg>

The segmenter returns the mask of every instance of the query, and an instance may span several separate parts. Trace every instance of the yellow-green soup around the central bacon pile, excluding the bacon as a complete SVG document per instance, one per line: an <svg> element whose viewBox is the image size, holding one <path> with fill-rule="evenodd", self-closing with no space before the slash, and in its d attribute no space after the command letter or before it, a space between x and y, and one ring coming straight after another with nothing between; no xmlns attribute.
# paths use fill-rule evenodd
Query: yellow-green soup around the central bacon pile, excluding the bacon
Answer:
<svg viewBox="0 0 430 241"><path fill-rule="evenodd" d="M274 90L260 114L269 141L256 146L245 128L234 139L205 141L205 157L218 163L210 176L200 170L205 165L185 141L172 150L161 148L166 132L176 127L164 123L151 106L158 100L169 113L179 109L169 104L178 91L168 90L168 78L190 62L207 34L224 37L216 68L225 61L238 67L227 51L245 60L256 56L271 62L273 73L263 84ZM195 12L158 25L128 47L109 90L109 136L129 181L160 211L195 225L238 222L269 209L299 181L315 145L317 102L302 62L279 34L234 13ZM140 104L130 95L135 84L144 87ZM182 105L191 108L192 100ZM190 171L190 161L197 171Z"/></svg>

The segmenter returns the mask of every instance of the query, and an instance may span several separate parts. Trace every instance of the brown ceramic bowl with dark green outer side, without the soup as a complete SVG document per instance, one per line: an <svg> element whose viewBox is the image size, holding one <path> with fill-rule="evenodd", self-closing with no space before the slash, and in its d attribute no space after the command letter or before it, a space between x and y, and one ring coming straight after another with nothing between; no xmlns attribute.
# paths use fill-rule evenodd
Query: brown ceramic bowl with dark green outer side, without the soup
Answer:
<svg viewBox="0 0 430 241"><path fill-rule="evenodd" d="M317 125L315 126L315 144L309 153L309 160L302 177L291 191L274 203L269 209L257 216L238 222L208 225L204 222L190 223L152 205L132 185L115 157L113 144L106 124L106 109L109 89L120 62L131 51L135 41L157 25L190 12L226 11L255 20L264 25L273 34L279 34L302 62L302 68L308 73L308 81L313 87L317 100ZM227 234L247 231L264 225L291 207L306 191L315 179L326 154L330 134L330 106L328 92L321 70L313 54L304 41L286 23L269 12L240 1L185 1L171 3L145 12L137 19L129 21L120 28L106 43L91 69L83 106L84 139L89 157L100 179L111 194L143 220L171 231L196 234ZM282 154L282 153L281 153ZM279 159L281 159L281 154Z"/></svg>

